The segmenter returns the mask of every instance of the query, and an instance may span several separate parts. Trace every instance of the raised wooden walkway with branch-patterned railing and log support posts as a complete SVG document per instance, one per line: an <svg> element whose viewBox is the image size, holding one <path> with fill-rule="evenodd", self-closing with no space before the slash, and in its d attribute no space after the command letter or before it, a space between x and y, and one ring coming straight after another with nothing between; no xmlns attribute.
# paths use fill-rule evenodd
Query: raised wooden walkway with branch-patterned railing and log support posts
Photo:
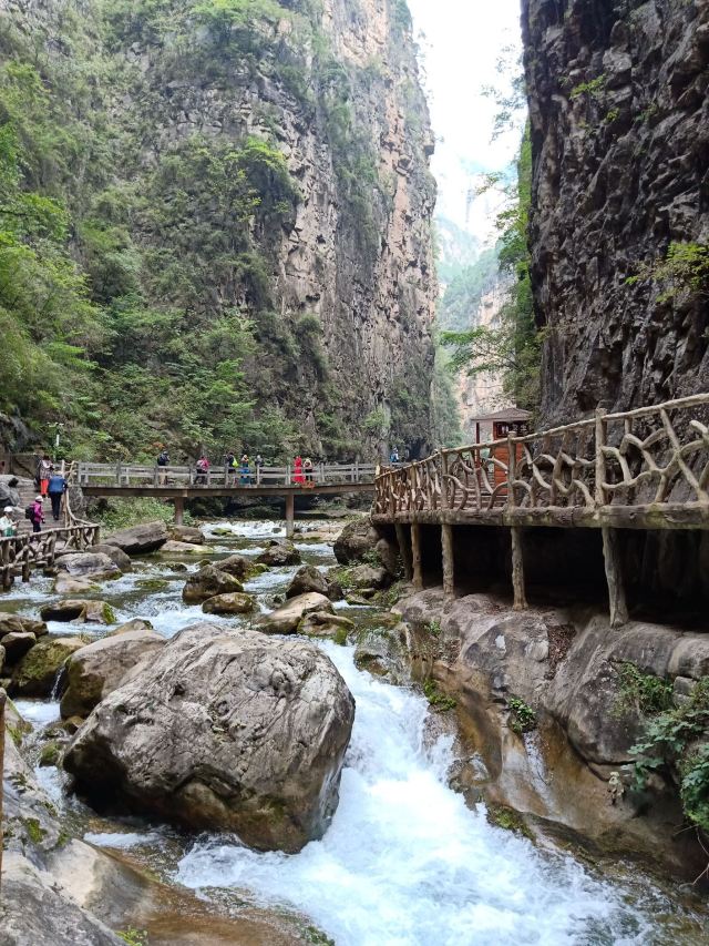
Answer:
<svg viewBox="0 0 709 946"><path fill-rule="evenodd" d="M600 529L614 624L627 620L618 532L709 529L709 394L527 436L441 450L377 478L374 522L397 529L423 586L421 528L441 527L443 584L455 584L453 529L505 527L515 608L526 607L524 535ZM410 527L408 532L405 527Z"/></svg>

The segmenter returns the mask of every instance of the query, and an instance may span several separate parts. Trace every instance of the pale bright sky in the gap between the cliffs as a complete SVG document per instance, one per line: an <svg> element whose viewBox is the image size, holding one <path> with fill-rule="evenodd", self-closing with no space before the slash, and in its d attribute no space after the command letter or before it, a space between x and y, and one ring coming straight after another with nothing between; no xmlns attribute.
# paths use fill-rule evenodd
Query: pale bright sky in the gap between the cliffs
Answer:
<svg viewBox="0 0 709 946"><path fill-rule="evenodd" d="M520 144L521 131L491 142L497 106L482 92L504 85L496 71L504 48L521 48L520 0L409 0L409 7L438 140L438 213L490 240L500 197L469 207L466 196L476 170L504 170Z"/></svg>

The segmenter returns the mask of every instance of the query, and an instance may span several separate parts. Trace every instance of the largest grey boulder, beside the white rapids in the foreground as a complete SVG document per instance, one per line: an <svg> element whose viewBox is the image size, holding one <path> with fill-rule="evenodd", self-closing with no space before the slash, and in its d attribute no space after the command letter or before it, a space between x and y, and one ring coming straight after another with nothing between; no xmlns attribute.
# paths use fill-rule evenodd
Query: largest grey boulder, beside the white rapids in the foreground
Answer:
<svg viewBox="0 0 709 946"><path fill-rule="evenodd" d="M353 718L312 644L197 624L99 703L64 767L90 801L294 853L335 812Z"/></svg>

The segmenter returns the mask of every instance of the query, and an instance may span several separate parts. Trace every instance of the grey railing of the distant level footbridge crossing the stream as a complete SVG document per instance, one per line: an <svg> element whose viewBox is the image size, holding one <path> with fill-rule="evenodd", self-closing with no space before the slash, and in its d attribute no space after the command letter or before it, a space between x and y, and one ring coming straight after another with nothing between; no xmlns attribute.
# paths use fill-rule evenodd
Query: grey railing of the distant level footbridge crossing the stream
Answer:
<svg viewBox="0 0 709 946"><path fill-rule="evenodd" d="M251 465L248 471L240 467L214 466L201 472L196 466L158 467L146 464L92 464L78 461L73 465L73 481L79 486L112 487L205 487L237 488L267 486L346 485L370 482L374 479L373 464L318 464L311 471L296 475L290 466Z"/></svg>

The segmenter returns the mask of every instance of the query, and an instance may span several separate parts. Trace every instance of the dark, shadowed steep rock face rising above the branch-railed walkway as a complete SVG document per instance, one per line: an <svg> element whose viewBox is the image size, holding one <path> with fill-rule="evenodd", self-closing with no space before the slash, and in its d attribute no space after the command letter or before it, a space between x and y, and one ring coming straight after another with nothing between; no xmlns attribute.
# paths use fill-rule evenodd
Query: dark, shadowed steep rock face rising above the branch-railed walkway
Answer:
<svg viewBox="0 0 709 946"><path fill-rule="evenodd" d="M699 291L626 279L671 243L709 241L709 8L522 8L544 419L706 390L706 278Z"/></svg>

